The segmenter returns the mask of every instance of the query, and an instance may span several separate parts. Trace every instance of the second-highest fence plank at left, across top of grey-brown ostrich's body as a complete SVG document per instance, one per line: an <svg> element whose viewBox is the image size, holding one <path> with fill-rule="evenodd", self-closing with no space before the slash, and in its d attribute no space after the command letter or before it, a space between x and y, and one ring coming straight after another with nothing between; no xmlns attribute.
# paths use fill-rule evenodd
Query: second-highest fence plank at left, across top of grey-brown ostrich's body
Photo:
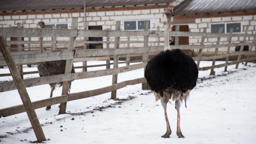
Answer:
<svg viewBox="0 0 256 144"><path fill-rule="evenodd" d="M46 62L54 60L68 60L74 57L74 51L57 51L50 53L29 53L13 55L16 64L26 64L31 62ZM6 65L3 56L0 56L0 65Z"/></svg>

